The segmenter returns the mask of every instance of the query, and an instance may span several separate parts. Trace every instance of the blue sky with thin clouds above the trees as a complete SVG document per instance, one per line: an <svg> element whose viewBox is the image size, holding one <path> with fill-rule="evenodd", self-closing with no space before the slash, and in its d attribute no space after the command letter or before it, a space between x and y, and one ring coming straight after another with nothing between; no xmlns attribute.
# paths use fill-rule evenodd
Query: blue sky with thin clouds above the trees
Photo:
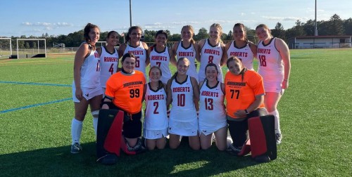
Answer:
<svg viewBox="0 0 352 177"><path fill-rule="evenodd" d="M184 25L192 25L197 34L216 22L227 34L237 22L250 29L261 23L273 29L280 22L289 29L296 20L315 19L315 0L131 1L132 25L171 34L179 34ZM122 33L130 27L130 0L1 0L0 7L0 37L68 35L88 22L101 32ZM352 18L351 7L351 0L317 0L317 20L329 20L335 13L342 20Z"/></svg>

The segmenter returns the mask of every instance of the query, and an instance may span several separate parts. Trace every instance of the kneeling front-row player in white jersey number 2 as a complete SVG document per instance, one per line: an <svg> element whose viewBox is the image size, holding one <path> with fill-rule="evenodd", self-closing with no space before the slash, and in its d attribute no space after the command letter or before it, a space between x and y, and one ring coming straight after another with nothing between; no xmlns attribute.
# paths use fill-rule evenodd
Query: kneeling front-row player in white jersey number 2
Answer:
<svg viewBox="0 0 352 177"><path fill-rule="evenodd" d="M163 149L168 136L168 115L166 114L166 85L161 82L161 69L158 66L149 70L150 82L144 87L146 111L144 117L143 135L146 138L146 147L153 150L155 147Z"/></svg>

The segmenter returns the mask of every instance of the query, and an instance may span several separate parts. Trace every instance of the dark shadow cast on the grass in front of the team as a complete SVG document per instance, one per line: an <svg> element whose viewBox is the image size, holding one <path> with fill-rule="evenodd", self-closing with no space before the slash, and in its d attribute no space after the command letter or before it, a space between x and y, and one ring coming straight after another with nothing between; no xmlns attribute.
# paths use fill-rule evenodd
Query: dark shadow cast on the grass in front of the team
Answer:
<svg viewBox="0 0 352 177"><path fill-rule="evenodd" d="M213 176L257 164L250 156L234 157L215 145L194 151L184 142L177 150L121 153L117 164L104 166L96 163L95 143L82 147L77 155L70 154L70 146L0 155L1 176Z"/></svg>

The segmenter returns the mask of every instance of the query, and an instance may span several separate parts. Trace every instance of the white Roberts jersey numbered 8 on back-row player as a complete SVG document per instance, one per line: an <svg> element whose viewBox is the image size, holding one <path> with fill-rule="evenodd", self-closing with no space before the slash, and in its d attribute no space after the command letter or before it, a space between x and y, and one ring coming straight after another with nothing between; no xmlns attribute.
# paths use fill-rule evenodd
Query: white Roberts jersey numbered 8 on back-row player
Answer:
<svg viewBox="0 0 352 177"><path fill-rule="evenodd" d="M206 65L208 63L214 63L218 67L218 81L223 82L223 75L220 66L222 58L222 47L220 42L216 46L211 46L209 44L209 39L207 39L204 43L204 46L201 48L201 67L199 68L199 81L203 81L206 79Z"/></svg>

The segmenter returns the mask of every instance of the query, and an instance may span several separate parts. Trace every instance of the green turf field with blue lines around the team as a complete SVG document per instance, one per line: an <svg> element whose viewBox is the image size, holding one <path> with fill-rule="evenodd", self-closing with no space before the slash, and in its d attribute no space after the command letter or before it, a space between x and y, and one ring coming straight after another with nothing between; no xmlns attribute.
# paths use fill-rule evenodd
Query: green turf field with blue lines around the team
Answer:
<svg viewBox="0 0 352 177"><path fill-rule="evenodd" d="M0 60L0 176L352 176L352 49L291 51L289 89L279 103L278 157L257 164L227 152L154 150L95 162L92 116L84 151L70 154L73 55Z"/></svg>

